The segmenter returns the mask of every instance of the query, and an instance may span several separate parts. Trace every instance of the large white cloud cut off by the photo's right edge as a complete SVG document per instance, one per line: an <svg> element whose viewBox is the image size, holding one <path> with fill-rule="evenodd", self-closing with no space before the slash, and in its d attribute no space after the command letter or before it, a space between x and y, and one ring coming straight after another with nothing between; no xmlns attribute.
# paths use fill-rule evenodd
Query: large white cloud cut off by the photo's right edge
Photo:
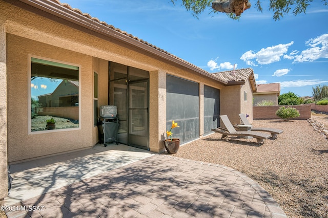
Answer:
<svg viewBox="0 0 328 218"><path fill-rule="evenodd" d="M323 34L305 42L311 48L296 55L294 62L314 61L319 58L328 58L328 34ZM293 63L294 63L293 62Z"/></svg>

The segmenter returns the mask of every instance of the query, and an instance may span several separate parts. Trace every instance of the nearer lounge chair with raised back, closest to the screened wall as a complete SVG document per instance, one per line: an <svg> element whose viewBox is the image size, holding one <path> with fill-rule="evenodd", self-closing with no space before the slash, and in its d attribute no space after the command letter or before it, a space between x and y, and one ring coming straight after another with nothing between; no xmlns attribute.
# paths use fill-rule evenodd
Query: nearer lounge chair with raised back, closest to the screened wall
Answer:
<svg viewBox="0 0 328 218"><path fill-rule="evenodd" d="M256 138L258 145L261 145L264 144L263 139L269 139L271 137L270 134L262 133L262 132L237 131L234 128L234 126L231 124L227 115L221 115L220 118L227 129L223 129L219 127L219 128L212 129L212 131L222 134L221 139L228 138L228 136L242 136L242 137L251 136Z"/></svg>

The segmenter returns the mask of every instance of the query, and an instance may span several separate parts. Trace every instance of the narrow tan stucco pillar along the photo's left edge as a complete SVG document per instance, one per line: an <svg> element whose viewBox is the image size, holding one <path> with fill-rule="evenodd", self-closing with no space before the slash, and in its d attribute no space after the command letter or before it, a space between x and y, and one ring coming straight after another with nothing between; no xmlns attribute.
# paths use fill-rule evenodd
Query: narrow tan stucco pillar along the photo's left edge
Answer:
<svg viewBox="0 0 328 218"><path fill-rule="evenodd" d="M7 196L7 67L6 30L0 19L0 206Z"/></svg>

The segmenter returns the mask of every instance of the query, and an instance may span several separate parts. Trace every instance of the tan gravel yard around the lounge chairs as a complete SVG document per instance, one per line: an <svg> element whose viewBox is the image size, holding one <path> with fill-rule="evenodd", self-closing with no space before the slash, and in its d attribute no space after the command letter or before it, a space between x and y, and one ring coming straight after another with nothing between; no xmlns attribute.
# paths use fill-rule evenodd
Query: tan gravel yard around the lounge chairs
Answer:
<svg viewBox="0 0 328 218"><path fill-rule="evenodd" d="M328 116L315 116L328 127ZM222 164L257 181L290 217L328 217L328 140L306 120L255 120L255 127L281 128L277 139L215 133L180 147L174 156Z"/></svg>

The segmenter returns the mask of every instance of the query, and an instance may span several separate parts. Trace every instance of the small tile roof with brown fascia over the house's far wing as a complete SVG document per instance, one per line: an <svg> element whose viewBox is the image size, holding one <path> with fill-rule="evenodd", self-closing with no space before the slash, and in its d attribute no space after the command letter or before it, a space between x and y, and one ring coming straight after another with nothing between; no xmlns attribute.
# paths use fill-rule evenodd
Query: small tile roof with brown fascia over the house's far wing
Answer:
<svg viewBox="0 0 328 218"><path fill-rule="evenodd" d="M250 80L252 91L257 92L254 71L252 68L217 72L213 73L213 75L227 81L228 85L245 84L245 82Z"/></svg>

